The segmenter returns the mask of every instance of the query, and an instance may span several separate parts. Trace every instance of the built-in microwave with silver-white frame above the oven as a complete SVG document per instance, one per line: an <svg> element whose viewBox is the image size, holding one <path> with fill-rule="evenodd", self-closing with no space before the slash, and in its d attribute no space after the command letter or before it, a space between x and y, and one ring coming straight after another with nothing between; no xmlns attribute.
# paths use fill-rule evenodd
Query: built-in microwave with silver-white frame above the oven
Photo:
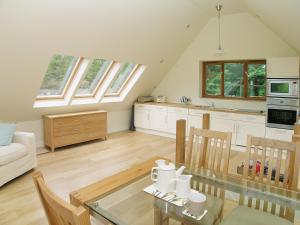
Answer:
<svg viewBox="0 0 300 225"><path fill-rule="evenodd" d="M280 98L299 98L299 79L268 78L267 96Z"/></svg>

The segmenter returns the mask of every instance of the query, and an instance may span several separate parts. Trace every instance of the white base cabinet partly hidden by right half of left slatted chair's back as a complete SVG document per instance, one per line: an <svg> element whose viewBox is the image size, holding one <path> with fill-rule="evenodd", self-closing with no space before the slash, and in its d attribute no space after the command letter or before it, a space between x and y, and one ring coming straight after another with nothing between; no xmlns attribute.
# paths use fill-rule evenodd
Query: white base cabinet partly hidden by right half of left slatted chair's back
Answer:
<svg viewBox="0 0 300 225"><path fill-rule="evenodd" d="M215 131L222 131L222 132L231 132L231 144L235 144L236 135L235 135L235 121L228 120L223 118L210 118L210 129Z"/></svg>

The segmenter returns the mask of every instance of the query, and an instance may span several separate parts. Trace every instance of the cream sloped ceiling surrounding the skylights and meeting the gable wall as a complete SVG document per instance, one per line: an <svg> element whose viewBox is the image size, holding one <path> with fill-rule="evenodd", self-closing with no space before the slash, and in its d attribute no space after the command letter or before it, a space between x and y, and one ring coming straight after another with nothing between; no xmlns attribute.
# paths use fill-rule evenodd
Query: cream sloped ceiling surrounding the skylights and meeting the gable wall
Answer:
<svg viewBox="0 0 300 225"><path fill-rule="evenodd" d="M138 95L152 92L207 21L215 16L216 2L0 0L0 121L24 121L46 113L96 108L128 109ZM266 8L260 16L267 25L272 16L276 20L282 17L269 12L268 5L259 0L221 2L223 14ZM274 4L280 9L278 2ZM299 6L296 0L284 2ZM290 32L281 37L299 49L297 21L293 21L296 27L292 32L285 30L285 23L274 22L270 26L280 34ZM123 103L33 109L44 72L55 53L131 61L145 64L147 69ZM160 63L161 60L164 62Z"/></svg>

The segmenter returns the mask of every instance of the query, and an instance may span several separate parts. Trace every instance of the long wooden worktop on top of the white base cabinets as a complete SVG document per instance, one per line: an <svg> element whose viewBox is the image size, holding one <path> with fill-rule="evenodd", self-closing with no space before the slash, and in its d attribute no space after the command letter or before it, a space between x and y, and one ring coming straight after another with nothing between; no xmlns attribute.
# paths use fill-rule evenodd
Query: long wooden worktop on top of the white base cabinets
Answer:
<svg viewBox="0 0 300 225"><path fill-rule="evenodd" d="M228 109L228 108L217 108L211 106L203 106L203 105L193 105L193 104L182 104L182 103L158 103L158 102L146 102L137 104L145 104L145 105L157 105L157 106L168 106L168 107L178 107L178 108L187 108L187 109L199 109L199 110L207 110L207 111L215 111L215 112L227 112L227 113L238 113L238 114L246 114L246 115L256 115L256 116L265 116L264 111L259 110L247 110L247 109Z"/></svg>

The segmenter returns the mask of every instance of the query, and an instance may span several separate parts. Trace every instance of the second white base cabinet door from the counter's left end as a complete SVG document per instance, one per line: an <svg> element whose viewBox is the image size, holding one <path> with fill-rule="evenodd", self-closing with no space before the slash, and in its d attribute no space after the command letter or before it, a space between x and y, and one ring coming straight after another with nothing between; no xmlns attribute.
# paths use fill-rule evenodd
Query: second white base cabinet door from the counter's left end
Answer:
<svg viewBox="0 0 300 225"><path fill-rule="evenodd" d="M156 131L167 131L168 110L165 106L151 106L150 108L150 129Z"/></svg>

